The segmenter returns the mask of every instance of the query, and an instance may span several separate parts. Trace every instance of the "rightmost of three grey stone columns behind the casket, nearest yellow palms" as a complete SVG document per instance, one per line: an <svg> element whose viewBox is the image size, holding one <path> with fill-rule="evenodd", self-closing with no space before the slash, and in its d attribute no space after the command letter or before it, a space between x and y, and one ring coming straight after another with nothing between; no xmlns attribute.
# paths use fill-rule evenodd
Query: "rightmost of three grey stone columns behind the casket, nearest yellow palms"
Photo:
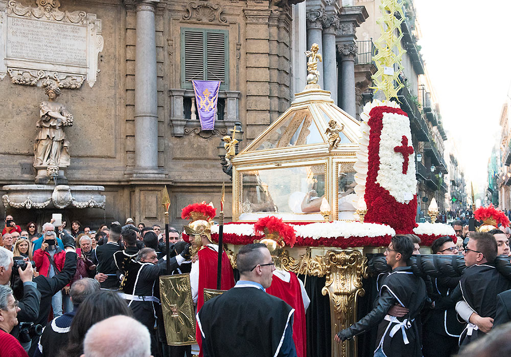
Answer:
<svg viewBox="0 0 511 357"><path fill-rule="evenodd" d="M346 43L339 46L339 55L341 58L340 70L340 108L352 117L356 118L357 108L355 100L355 57L357 57L356 42Z"/></svg>

